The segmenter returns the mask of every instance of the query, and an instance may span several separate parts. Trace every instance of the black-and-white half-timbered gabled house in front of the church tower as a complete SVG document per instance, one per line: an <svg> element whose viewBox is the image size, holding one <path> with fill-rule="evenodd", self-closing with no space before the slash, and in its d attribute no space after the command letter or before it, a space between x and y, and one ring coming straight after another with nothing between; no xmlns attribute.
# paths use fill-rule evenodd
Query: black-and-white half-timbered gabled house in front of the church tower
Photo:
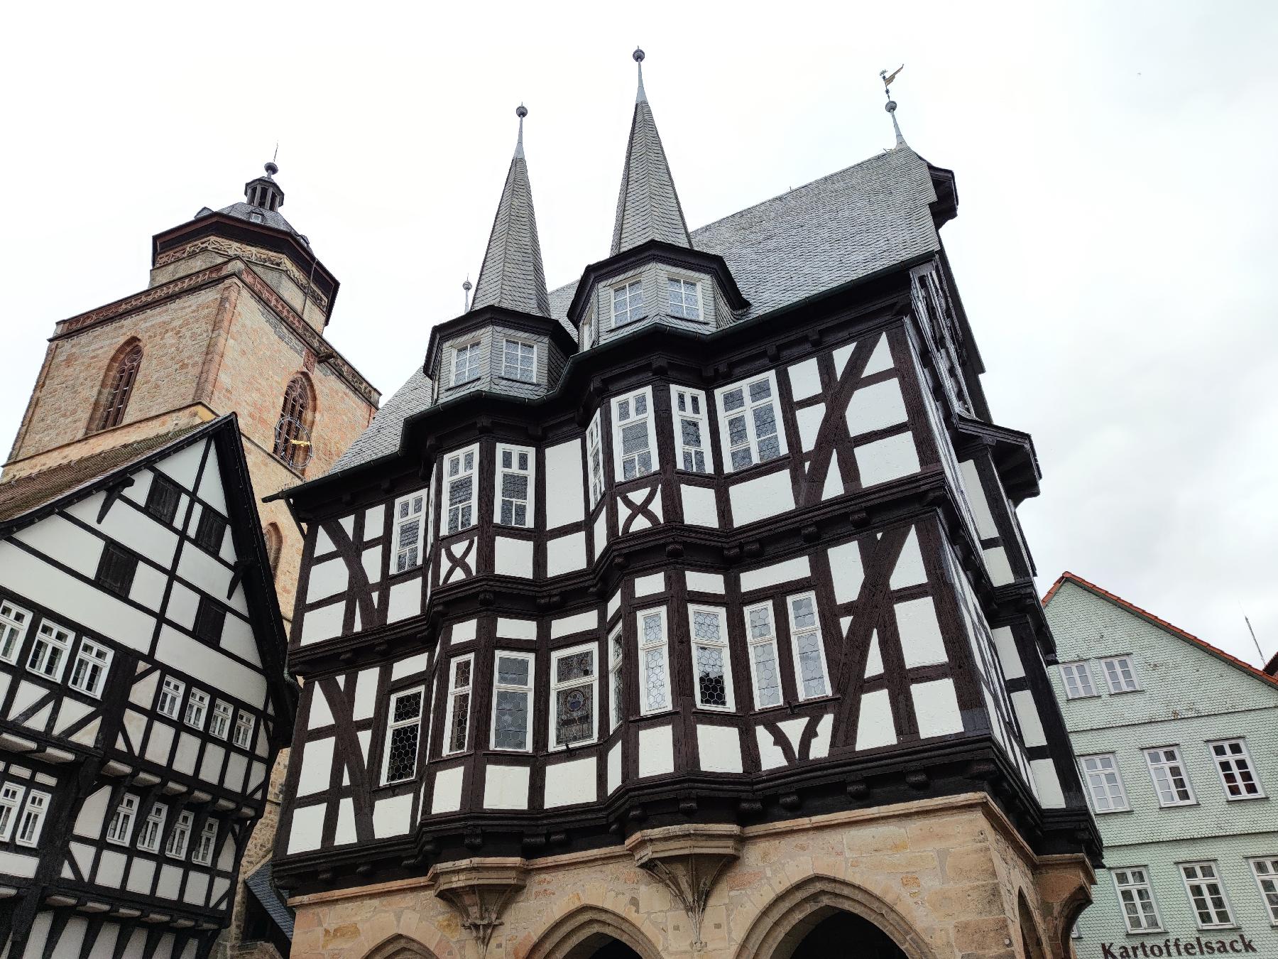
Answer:
<svg viewBox="0 0 1278 959"><path fill-rule="evenodd" d="M234 416L0 486L0 955L207 955L295 701Z"/></svg>

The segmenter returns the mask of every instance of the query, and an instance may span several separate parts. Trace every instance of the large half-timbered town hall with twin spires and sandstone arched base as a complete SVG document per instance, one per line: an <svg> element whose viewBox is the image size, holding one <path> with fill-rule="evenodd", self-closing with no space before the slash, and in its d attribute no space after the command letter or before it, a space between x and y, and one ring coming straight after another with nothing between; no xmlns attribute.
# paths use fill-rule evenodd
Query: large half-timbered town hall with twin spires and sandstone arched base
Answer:
<svg viewBox="0 0 1278 959"><path fill-rule="evenodd" d="M294 954L1067 955L1099 843L955 175L897 132L690 231L640 74L548 290L525 114L468 311L286 494Z"/></svg>

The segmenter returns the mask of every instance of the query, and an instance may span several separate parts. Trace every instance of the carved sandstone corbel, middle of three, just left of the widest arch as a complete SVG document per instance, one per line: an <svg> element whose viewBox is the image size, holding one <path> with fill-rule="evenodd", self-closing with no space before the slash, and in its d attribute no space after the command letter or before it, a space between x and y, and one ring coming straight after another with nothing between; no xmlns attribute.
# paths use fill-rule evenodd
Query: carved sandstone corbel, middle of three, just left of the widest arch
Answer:
<svg viewBox="0 0 1278 959"><path fill-rule="evenodd" d="M720 875L741 855L741 827L705 822L639 830L626 840L635 864L679 900L693 923L693 949L704 949L702 918Z"/></svg>

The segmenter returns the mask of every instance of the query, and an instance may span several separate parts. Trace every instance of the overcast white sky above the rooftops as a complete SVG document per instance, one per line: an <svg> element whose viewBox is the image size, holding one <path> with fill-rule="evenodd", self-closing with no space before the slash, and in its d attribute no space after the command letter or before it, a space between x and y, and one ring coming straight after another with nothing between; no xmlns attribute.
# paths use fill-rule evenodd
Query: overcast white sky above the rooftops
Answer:
<svg viewBox="0 0 1278 959"><path fill-rule="evenodd" d="M690 226L891 146L958 178L943 230L997 422L1030 431L1043 589L1070 569L1228 651L1278 650L1270 3L12 4L5 451L59 318L146 285L152 234L242 198L343 284L383 394L461 309L525 132L546 274L604 257L635 43Z"/></svg>

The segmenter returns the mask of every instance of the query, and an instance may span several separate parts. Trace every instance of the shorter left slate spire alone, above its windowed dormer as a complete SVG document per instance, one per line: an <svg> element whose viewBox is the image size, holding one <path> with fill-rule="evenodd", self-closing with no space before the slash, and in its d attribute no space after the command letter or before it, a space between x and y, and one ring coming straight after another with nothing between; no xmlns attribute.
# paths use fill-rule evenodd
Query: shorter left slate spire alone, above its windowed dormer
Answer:
<svg viewBox="0 0 1278 959"><path fill-rule="evenodd" d="M550 316L551 298L546 292L542 247L537 240L533 188L528 182L528 164L524 160L524 118L528 116L528 107L520 104L515 115L519 116L515 156L501 191L501 202L492 221L488 251L483 256L470 308L496 306Z"/></svg>

